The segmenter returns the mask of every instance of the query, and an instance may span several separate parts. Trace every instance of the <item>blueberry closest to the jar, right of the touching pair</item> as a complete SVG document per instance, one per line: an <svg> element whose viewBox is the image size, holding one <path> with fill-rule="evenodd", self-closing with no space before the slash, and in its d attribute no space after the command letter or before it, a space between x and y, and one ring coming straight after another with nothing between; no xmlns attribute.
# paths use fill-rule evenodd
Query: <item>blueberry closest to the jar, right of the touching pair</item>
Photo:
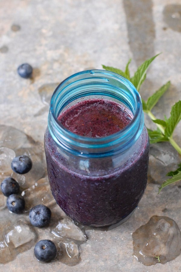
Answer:
<svg viewBox="0 0 181 272"><path fill-rule="evenodd" d="M30 209L30 223L35 227L44 227L50 222L51 210L45 205L37 205Z"/></svg>

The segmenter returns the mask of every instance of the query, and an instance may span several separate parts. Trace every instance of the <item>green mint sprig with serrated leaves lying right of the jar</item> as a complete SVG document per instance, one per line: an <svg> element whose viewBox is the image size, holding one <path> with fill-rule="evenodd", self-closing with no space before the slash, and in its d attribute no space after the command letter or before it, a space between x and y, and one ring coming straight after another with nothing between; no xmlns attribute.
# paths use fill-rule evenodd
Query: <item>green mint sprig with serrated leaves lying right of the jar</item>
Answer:
<svg viewBox="0 0 181 272"><path fill-rule="evenodd" d="M132 82L132 84L135 86L135 88L139 91L141 84L146 79L146 72L152 63L152 61L158 56L159 54L155 55L154 57L145 60L136 70L134 76L130 76L129 71L129 64L131 62L131 59L129 59L128 63L126 64L125 71L122 71L120 69L111 67L111 66L105 66L103 65L103 68L108 71L115 72L121 76L124 76L128 80ZM147 101L144 101L142 99L142 105L143 105L143 111L148 114L148 116L151 118L151 120L156 124L157 130L151 130L147 128L150 142L151 143L158 143L162 141L169 141L170 144L178 151L179 154L181 154L181 147L174 141L173 139L173 132L178 125L179 121L181 120L181 101L175 103L175 105L172 106L170 117L167 119L166 116L164 120L156 118L151 110L154 108L154 106L157 104L159 99L164 95L164 93L168 90L170 86L170 81L168 81L166 84L160 87L156 92L154 92L153 95L151 95ZM180 166L181 167L181 166ZM176 171L171 171L169 173L172 173L172 178L166 180L159 188L159 192L162 188L165 186L181 180L181 169L178 168ZM168 174L169 174L168 173Z"/></svg>

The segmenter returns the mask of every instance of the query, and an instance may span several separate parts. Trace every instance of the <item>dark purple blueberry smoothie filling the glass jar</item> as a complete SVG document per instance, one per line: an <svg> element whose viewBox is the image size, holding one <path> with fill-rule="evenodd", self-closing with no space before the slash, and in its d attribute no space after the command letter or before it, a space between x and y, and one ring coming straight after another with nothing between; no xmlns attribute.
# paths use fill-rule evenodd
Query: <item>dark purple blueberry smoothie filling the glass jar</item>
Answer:
<svg viewBox="0 0 181 272"><path fill-rule="evenodd" d="M132 112L109 99L87 99L57 116L58 123L79 136L99 139L124 129ZM85 225L109 226L124 221L138 206L147 184L149 138L144 126L123 153L91 158L69 155L45 133L50 188L62 210ZM111 148L111 147L110 147Z"/></svg>

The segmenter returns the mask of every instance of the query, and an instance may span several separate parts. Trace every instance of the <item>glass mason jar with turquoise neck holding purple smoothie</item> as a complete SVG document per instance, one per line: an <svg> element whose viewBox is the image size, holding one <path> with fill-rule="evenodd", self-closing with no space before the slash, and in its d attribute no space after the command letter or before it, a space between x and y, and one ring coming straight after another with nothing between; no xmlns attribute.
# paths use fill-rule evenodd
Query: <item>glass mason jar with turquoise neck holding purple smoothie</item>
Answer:
<svg viewBox="0 0 181 272"><path fill-rule="evenodd" d="M132 121L100 138L79 136L57 121L68 107L91 98L124 105ZM104 70L65 79L52 95L44 145L52 194L68 216L101 227L132 214L147 184L149 138L141 98L127 79Z"/></svg>

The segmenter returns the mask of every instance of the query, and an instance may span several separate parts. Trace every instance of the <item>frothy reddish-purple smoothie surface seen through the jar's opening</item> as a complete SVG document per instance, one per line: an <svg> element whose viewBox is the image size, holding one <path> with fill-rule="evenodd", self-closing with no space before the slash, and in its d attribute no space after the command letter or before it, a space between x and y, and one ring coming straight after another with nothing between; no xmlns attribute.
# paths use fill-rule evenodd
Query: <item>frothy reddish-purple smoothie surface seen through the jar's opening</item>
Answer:
<svg viewBox="0 0 181 272"><path fill-rule="evenodd" d="M79 102L58 117L66 129L86 137L108 136L125 128L131 119L128 109L106 99Z"/></svg>

